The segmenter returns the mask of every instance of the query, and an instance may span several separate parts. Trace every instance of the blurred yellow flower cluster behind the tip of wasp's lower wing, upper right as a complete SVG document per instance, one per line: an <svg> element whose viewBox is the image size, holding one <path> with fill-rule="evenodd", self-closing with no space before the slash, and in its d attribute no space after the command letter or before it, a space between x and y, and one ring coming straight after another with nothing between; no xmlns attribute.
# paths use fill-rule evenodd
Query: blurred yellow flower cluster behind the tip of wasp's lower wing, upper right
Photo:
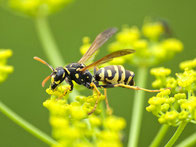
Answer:
<svg viewBox="0 0 196 147"><path fill-rule="evenodd" d="M172 58L183 49L175 38L166 38L168 28L162 22L145 22L141 31L138 27L123 27L116 35L116 41L109 45L109 51L134 49L133 55L114 59L113 64L129 62L136 66L153 66Z"/></svg>

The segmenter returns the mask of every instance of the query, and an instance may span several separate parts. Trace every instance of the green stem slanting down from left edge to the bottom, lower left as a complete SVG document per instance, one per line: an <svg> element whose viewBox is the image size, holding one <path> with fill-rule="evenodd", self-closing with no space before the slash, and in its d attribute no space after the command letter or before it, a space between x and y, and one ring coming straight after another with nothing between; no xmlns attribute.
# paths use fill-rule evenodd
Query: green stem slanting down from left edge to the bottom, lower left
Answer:
<svg viewBox="0 0 196 147"><path fill-rule="evenodd" d="M35 137L39 138L43 142L47 143L48 145L55 145L58 144L54 139L52 139L50 136L21 118L19 115L14 113L12 110L10 110L6 105L4 105L0 101L0 111L5 114L7 117L9 117L12 121L14 121L16 124L24 128L27 132L31 133Z"/></svg>

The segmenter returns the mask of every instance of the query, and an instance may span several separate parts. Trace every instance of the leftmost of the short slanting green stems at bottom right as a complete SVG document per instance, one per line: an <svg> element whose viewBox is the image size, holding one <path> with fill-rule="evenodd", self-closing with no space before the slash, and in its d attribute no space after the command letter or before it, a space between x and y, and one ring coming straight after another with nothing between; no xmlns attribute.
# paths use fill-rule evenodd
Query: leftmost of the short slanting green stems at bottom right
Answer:
<svg viewBox="0 0 196 147"><path fill-rule="evenodd" d="M169 128L168 125L162 125L158 134L156 135L156 137L154 138L154 140L150 144L150 147L159 147L161 140L163 139L163 137L165 136L165 134L168 131L168 128Z"/></svg>

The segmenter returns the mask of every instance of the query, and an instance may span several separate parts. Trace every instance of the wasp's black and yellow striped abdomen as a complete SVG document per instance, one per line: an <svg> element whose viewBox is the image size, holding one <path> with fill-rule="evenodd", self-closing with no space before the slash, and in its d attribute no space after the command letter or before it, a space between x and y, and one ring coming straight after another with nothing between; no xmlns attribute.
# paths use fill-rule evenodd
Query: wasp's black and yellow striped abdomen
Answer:
<svg viewBox="0 0 196 147"><path fill-rule="evenodd" d="M102 81L106 84L125 84L134 85L134 72L125 70L121 65L110 65L100 68L95 73L95 80Z"/></svg>

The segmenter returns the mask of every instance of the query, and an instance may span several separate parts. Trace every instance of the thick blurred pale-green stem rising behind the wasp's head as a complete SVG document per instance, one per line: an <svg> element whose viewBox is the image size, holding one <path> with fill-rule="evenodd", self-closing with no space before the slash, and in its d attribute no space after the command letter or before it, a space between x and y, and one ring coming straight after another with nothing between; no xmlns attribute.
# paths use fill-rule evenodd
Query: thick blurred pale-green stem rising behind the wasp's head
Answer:
<svg viewBox="0 0 196 147"><path fill-rule="evenodd" d="M64 61L62 55L60 54L52 36L47 19L45 17L35 19L35 26L49 62L52 63L55 67L63 66Z"/></svg>

